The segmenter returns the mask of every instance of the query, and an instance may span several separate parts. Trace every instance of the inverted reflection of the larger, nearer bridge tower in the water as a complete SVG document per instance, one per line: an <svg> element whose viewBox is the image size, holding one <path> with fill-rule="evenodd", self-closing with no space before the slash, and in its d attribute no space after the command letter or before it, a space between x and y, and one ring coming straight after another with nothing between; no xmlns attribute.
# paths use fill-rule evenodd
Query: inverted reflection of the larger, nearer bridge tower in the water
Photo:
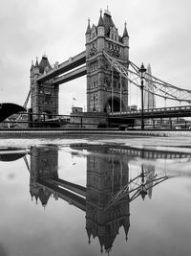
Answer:
<svg viewBox="0 0 191 256"><path fill-rule="evenodd" d="M87 156L86 230L89 237L98 238L101 252L109 252L123 226L126 239L130 226L129 198L123 198L105 210L107 202L126 185L129 180L128 164L124 161L102 157L95 151Z"/></svg>

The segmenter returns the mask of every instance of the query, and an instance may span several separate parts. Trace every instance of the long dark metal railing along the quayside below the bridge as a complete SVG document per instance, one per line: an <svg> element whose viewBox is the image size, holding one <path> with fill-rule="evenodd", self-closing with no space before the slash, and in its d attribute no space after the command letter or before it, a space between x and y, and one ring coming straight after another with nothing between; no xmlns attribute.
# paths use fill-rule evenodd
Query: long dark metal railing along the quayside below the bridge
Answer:
<svg viewBox="0 0 191 256"><path fill-rule="evenodd" d="M85 114L85 115L84 115ZM191 121L184 119L167 118L145 118L145 129L191 129ZM9 119L0 124L4 128L112 128L117 130L140 129L140 119L129 119L123 116L108 116L86 114L79 112L71 115L54 115L52 117L45 113L22 113L22 119Z"/></svg>

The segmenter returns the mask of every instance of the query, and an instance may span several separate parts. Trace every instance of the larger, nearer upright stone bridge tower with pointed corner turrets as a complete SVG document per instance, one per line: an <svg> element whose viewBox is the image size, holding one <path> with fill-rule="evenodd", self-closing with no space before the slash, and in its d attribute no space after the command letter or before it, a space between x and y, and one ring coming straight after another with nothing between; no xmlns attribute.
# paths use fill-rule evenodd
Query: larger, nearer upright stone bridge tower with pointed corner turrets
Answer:
<svg viewBox="0 0 191 256"><path fill-rule="evenodd" d="M87 64L87 111L116 112L128 108L128 81L120 77L111 67L103 51L128 67L129 35L126 23L123 35L118 35L111 12L106 10L98 24L88 27L86 31Z"/></svg>

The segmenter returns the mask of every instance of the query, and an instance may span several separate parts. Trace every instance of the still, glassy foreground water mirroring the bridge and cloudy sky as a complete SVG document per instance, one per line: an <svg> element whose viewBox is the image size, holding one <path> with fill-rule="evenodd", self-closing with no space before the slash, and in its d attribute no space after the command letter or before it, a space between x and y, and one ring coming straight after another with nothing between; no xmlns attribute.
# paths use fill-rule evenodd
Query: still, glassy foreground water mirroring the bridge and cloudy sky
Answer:
<svg viewBox="0 0 191 256"><path fill-rule="evenodd" d="M2 140L0 256L191 255L184 145Z"/></svg>

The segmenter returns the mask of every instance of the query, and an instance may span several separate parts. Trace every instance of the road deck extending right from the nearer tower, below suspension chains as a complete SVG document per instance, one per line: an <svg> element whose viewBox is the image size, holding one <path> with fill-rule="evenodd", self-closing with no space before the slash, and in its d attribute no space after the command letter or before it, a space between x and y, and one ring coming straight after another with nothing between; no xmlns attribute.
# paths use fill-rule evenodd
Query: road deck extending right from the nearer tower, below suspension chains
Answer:
<svg viewBox="0 0 191 256"><path fill-rule="evenodd" d="M190 117L191 105L144 109L144 118ZM141 110L109 113L110 118L141 118Z"/></svg>

